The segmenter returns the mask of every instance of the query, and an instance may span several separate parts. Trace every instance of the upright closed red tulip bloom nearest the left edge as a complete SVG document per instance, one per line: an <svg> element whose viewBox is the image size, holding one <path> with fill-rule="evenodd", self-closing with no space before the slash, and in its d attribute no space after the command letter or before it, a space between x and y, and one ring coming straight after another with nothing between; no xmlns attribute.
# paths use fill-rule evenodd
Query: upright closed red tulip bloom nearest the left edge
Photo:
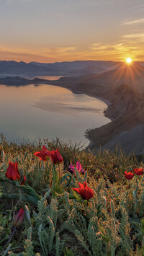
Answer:
<svg viewBox="0 0 144 256"><path fill-rule="evenodd" d="M9 162L9 167L7 168L7 172L5 175L9 180L19 180L20 179L17 162L15 162L15 163Z"/></svg>

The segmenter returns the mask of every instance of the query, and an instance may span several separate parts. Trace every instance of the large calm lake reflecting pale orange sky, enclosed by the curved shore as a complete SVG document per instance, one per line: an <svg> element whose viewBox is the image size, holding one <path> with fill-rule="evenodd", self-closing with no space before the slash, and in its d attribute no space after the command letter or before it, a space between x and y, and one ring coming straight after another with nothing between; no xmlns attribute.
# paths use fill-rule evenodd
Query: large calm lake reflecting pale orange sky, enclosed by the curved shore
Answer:
<svg viewBox="0 0 144 256"><path fill-rule="evenodd" d="M103 114L106 107L94 97L47 84L0 85L0 133L18 143L58 137L87 146L86 129L109 123Z"/></svg>

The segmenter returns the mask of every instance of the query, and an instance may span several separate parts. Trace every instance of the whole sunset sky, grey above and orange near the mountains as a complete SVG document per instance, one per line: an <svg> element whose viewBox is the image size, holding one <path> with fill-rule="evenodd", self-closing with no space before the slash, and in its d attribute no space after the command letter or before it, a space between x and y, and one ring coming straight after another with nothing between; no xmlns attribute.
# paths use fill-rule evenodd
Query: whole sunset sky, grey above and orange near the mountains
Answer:
<svg viewBox="0 0 144 256"><path fill-rule="evenodd" d="M0 60L144 61L143 0L0 0Z"/></svg>

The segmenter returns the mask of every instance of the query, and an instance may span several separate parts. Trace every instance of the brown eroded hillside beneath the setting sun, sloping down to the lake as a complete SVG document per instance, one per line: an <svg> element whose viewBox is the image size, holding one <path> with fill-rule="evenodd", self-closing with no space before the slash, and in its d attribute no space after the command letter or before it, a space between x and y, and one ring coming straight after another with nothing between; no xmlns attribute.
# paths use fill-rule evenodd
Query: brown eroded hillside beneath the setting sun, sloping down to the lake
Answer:
<svg viewBox="0 0 144 256"><path fill-rule="evenodd" d="M112 150L116 149L117 136L120 133L129 131L132 128L133 134L139 131L136 127L144 124L144 68L138 63L132 66L122 66L120 69L106 71L102 74L92 76L79 76L78 78L61 78L55 81L56 84L67 87L73 92L89 94L89 96L99 97L108 104L104 115L112 120L107 125L86 131L86 138L89 138L91 150L99 149L99 146L109 148L109 141L115 139ZM140 130L139 141L144 138L143 129ZM137 152L143 151L143 144L138 147L137 136L132 138L134 147L129 144L127 150L122 140L119 144L126 154L138 148ZM128 143L128 142L127 142Z"/></svg>

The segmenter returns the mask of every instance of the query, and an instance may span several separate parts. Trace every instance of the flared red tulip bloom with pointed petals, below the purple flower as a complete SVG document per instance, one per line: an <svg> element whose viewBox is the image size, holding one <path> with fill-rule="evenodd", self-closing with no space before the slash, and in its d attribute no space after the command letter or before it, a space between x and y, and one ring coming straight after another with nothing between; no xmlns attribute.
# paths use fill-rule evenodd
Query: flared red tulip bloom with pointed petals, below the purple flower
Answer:
<svg viewBox="0 0 144 256"><path fill-rule="evenodd" d="M84 200L89 200L93 197L94 191L91 190L90 187L88 187L86 181L84 182L84 184L78 183L78 185L78 188L74 187L72 189L75 190L79 195L81 195L81 198L83 198Z"/></svg>

